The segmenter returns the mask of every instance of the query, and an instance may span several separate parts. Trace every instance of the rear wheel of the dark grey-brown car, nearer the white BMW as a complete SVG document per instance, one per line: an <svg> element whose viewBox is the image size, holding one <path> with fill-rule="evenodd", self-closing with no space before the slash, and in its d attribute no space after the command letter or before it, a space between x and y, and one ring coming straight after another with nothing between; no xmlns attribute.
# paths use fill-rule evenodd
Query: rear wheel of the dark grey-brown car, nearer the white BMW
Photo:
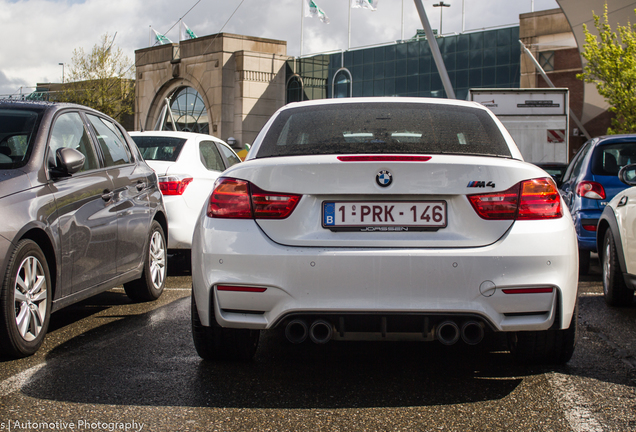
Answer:
<svg viewBox="0 0 636 432"><path fill-rule="evenodd" d="M126 295L134 301L157 300L166 285L167 262L166 236L161 224L152 221L144 271L139 279L124 284Z"/></svg>

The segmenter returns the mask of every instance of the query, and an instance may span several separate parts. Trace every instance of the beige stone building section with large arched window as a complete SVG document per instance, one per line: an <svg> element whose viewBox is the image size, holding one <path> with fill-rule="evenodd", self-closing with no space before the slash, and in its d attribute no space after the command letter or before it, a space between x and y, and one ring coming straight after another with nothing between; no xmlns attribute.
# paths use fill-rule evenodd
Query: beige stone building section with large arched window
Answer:
<svg viewBox="0 0 636 432"><path fill-rule="evenodd" d="M251 143L285 104L286 53L285 41L228 33L135 51L135 129Z"/></svg>

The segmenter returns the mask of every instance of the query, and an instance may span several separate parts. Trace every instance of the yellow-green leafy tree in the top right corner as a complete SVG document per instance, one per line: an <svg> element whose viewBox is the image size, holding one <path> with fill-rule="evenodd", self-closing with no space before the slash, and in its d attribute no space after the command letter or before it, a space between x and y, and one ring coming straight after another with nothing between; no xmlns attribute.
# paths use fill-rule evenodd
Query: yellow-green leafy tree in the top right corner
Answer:
<svg viewBox="0 0 636 432"><path fill-rule="evenodd" d="M636 12L636 11L635 11ZM636 132L636 25L627 21L613 32L607 18L607 3L601 18L592 12L598 37L583 24L587 60L577 78L593 83L615 114L608 134ZM599 40L600 39L600 40Z"/></svg>

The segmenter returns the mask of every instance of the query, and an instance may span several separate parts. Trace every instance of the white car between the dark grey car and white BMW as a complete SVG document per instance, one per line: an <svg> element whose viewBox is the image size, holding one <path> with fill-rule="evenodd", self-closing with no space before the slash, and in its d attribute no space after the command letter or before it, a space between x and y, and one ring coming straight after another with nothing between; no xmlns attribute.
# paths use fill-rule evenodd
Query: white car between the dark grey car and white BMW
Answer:
<svg viewBox="0 0 636 432"><path fill-rule="evenodd" d="M234 150L211 135L192 132L130 132L155 170L168 213L168 249L189 252L201 208L222 171L241 162Z"/></svg>

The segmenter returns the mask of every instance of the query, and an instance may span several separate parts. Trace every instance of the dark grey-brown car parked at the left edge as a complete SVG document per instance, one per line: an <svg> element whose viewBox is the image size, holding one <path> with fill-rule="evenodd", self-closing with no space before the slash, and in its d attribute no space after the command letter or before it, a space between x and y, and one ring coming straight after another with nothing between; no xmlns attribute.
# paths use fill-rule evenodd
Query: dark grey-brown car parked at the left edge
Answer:
<svg viewBox="0 0 636 432"><path fill-rule="evenodd" d="M167 222L157 176L93 109L0 101L0 354L35 353L52 312L124 284L157 299Z"/></svg>

